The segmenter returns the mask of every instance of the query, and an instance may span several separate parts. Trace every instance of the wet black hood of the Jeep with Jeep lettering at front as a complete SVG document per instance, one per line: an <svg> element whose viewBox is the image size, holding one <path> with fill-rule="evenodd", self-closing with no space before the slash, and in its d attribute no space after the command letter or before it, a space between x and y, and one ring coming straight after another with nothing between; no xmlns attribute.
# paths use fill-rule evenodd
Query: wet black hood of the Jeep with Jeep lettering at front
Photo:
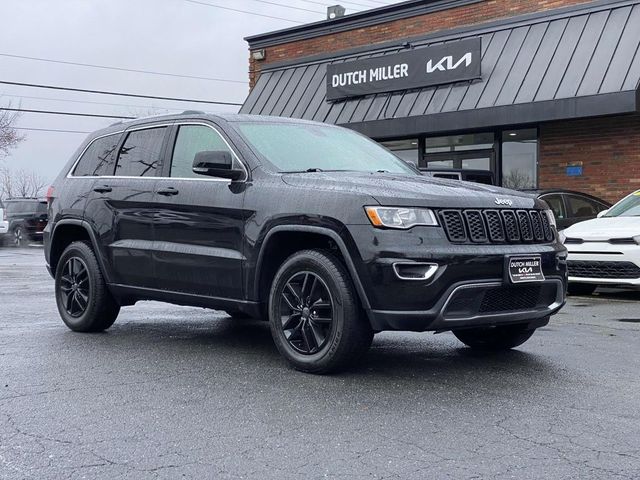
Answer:
<svg viewBox="0 0 640 480"><path fill-rule="evenodd" d="M289 173L288 185L373 197L381 205L434 208L547 208L534 196L506 188L423 175L375 172ZM511 205L509 205L509 202Z"/></svg>

